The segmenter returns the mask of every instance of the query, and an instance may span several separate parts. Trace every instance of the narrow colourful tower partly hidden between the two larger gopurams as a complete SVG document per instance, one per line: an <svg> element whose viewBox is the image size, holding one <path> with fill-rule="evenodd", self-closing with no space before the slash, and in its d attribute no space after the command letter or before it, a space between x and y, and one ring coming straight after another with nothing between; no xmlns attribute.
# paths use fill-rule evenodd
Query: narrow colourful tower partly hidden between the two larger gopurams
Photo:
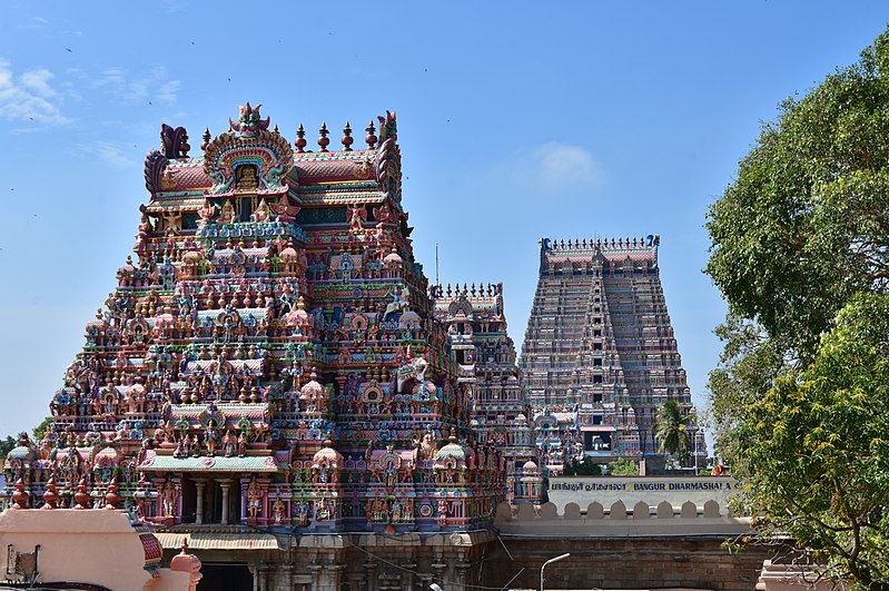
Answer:
<svg viewBox="0 0 889 591"><path fill-rule="evenodd" d="M506 500L539 503L542 477L530 425L531 405L506 331L503 284L434 287L435 316L447 327L457 383L473 401L472 424L481 442L506 460Z"/></svg>

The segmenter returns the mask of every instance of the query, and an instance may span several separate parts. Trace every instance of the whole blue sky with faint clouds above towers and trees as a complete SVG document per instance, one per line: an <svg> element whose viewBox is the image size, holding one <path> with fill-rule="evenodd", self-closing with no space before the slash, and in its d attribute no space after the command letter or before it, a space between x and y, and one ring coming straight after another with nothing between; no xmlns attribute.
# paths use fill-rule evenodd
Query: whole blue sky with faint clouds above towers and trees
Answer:
<svg viewBox="0 0 889 591"><path fill-rule="evenodd" d="M90 2L0 6L0 435L48 413L115 286L160 124L199 154L238 104L281 132L398 114L417 259L503 282L521 346L537 239L661 236L694 400L725 305L709 204L760 122L858 53L886 2ZM356 141L356 145L358 142Z"/></svg>

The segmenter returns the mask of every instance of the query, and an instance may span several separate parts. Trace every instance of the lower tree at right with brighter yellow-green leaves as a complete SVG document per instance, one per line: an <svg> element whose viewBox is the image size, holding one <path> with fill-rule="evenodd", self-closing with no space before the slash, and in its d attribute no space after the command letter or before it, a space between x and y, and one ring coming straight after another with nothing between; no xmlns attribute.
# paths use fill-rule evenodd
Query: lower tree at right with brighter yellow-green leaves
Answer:
<svg viewBox="0 0 889 591"><path fill-rule="evenodd" d="M856 296L813 363L748 407L734 474L762 533L889 589L889 295Z"/></svg>

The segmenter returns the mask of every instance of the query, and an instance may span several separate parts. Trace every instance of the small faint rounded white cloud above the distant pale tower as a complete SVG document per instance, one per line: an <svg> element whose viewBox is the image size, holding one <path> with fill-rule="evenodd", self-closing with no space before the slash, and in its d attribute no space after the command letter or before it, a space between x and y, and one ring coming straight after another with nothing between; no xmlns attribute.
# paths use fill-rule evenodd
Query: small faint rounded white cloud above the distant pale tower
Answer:
<svg viewBox="0 0 889 591"><path fill-rule="evenodd" d="M513 184L534 191L590 188L602 176L593 155L581 146L550 141L502 164Z"/></svg>

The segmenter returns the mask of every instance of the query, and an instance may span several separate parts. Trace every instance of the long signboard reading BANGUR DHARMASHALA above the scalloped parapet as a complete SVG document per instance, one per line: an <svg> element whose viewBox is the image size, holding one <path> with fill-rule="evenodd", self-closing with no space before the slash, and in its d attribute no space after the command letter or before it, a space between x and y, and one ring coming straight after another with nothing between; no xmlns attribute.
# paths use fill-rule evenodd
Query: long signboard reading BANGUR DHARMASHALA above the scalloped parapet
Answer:
<svg viewBox="0 0 889 591"><path fill-rule="evenodd" d="M737 486L728 476L553 476L549 492L560 513L569 503L584 510L590 503L608 509L618 501L632 509L640 501L651 506L669 501L675 508L692 501L701 508L712 500L724 510Z"/></svg>

